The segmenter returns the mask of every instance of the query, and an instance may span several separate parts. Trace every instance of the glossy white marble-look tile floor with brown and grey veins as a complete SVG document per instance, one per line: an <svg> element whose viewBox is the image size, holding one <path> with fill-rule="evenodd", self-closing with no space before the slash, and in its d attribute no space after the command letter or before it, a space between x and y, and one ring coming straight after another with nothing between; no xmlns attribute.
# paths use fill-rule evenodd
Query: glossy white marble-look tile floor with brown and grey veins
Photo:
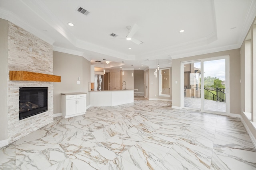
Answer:
<svg viewBox="0 0 256 170"><path fill-rule="evenodd" d="M54 122L0 149L2 170L252 170L239 118L135 98Z"/></svg>

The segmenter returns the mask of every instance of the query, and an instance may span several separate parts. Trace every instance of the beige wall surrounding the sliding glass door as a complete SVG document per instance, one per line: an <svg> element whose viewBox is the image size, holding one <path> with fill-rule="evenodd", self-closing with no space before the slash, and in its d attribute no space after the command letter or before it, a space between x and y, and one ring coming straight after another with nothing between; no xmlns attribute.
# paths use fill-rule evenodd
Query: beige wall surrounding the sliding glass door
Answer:
<svg viewBox="0 0 256 170"><path fill-rule="evenodd" d="M172 60L172 106L180 107L180 62L230 56L230 113L240 114L240 49ZM175 71L174 71L175 70ZM177 81L177 84L175 84Z"/></svg>

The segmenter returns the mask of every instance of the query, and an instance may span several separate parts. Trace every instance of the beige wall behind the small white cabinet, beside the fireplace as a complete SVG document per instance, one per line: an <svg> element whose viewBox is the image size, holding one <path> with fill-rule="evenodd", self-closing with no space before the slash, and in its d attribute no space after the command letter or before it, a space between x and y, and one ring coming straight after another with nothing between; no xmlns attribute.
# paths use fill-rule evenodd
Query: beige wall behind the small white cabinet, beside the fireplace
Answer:
<svg viewBox="0 0 256 170"><path fill-rule="evenodd" d="M61 82L54 83L54 113L61 113L61 93L86 92L86 105L89 106L90 61L81 56L53 51L53 68L54 75L61 76ZM80 84L77 84L78 77L81 78Z"/></svg>

